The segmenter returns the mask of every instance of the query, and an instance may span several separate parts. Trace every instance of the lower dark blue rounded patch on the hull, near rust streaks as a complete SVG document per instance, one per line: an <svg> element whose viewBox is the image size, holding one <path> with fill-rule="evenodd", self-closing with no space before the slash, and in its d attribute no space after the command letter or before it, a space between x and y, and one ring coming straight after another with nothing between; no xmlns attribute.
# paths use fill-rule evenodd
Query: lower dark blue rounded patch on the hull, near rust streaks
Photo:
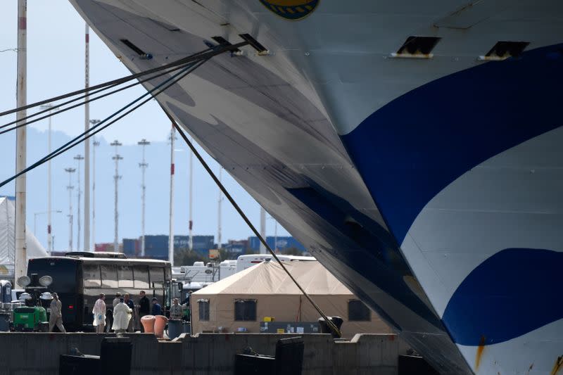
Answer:
<svg viewBox="0 0 563 375"><path fill-rule="evenodd" d="M491 345L563 319L563 253L510 248L476 267L443 314L455 343Z"/></svg>

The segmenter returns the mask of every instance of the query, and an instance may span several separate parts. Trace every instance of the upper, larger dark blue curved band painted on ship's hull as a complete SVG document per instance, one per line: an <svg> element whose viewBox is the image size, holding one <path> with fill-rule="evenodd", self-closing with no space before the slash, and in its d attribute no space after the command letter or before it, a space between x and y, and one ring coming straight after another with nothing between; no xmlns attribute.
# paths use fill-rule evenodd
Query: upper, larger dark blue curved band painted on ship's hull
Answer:
<svg viewBox="0 0 563 375"><path fill-rule="evenodd" d="M400 96L342 136L398 243L457 177L562 125L563 44L456 72Z"/></svg>

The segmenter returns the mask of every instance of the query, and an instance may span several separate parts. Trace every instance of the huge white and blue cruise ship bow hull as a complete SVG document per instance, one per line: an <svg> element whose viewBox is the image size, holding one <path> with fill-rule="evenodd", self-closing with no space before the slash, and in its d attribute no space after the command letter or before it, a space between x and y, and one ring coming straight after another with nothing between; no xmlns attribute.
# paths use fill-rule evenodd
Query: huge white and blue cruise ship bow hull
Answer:
<svg viewBox="0 0 563 375"><path fill-rule="evenodd" d="M555 374L563 5L71 2L132 71L251 34L160 103L438 371Z"/></svg>

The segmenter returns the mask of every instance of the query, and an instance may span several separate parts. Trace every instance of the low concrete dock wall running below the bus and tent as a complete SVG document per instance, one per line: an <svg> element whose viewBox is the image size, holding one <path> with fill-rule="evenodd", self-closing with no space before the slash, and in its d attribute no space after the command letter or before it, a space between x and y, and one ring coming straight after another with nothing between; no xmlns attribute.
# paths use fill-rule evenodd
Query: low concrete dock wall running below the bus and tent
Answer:
<svg viewBox="0 0 563 375"><path fill-rule="evenodd" d="M96 333L0 333L1 375L58 374L59 356L78 348L99 355L104 336ZM233 374L234 355L245 348L274 355L279 338L303 336L303 375L397 374L407 345L395 335L356 335L334 341L326 334L199 333L158 341L151 333L127 334L133 343L132 374ZM105 365L110 373L111 364Z"/></svg>

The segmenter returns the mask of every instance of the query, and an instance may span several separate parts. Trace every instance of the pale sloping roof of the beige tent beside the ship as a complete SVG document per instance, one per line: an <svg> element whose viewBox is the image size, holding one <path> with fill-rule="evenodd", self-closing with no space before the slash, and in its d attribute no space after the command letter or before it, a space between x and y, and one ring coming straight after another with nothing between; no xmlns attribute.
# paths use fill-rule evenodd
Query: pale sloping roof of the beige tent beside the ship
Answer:
<svg viewBox="0 0 563 375"><path fill-rule="evenodd" d="M352 295L319 262L284 262L299 284L311 295ZM210 294L302 294L284 269L275 262L262 262L242 272L206 286L194 295Z"/></svg>

